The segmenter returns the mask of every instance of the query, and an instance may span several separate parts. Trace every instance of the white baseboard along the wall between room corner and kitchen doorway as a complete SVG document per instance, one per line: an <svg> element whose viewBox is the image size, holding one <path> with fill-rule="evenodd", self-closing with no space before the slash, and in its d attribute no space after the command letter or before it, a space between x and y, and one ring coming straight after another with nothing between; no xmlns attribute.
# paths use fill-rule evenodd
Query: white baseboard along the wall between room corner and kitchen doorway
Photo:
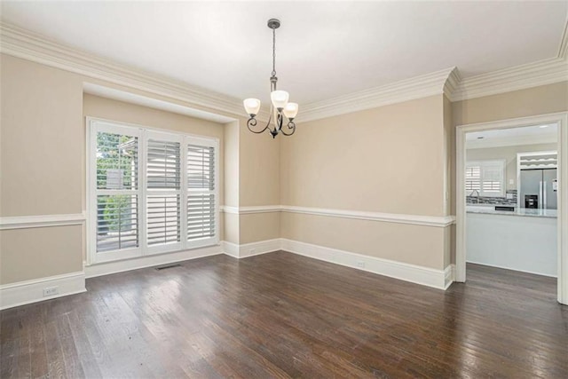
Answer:
<svg viewBox="0 0 568 379"><path fill-rule="evenodd" d="M446 289L453 280L451 265L448 265L446 270L437 270L287 239L282 239L282 249L304 257L311 257L336 265L344 265L433 288Z"/></svg>

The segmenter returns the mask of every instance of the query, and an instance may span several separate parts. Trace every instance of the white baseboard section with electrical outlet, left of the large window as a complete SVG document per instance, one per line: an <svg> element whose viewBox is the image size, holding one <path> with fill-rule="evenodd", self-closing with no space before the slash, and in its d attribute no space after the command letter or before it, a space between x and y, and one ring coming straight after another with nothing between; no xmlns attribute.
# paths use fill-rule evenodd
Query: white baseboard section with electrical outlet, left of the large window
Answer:
<svg viewBox="0 0 568 379"><path fill-rule="evenodd" d="M58 294L43 296L44 288L57 287ZM85 273L71 272L0 286L0 310L85 292Z"/></svg>

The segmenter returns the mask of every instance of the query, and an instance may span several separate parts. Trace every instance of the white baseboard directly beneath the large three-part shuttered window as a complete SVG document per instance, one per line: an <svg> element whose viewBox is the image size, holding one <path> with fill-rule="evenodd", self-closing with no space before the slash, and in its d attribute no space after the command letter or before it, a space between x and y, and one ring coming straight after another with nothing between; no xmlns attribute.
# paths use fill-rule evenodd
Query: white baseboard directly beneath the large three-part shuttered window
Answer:
<svg viewBox="0 0 568 379"><path fill-rule="evenodd" d="M222 245L214 245L206 248L177 251L175 253L157 254L154 256L136 257L124 259L122 261L106 262L97 265L85 265L85 276L94 278L111 273L138 270L140 268L152 267L154 265L168 265L188 259L216 256L223 254Z"/></svg>

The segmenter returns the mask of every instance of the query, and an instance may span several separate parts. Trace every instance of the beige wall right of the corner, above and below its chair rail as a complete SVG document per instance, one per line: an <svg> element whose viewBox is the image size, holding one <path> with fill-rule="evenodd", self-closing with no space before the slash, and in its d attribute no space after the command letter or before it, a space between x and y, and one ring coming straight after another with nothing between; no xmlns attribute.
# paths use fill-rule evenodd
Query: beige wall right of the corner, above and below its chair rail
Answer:
<svg viewBox="0 0 568 379"><path fill-rule="evenodd" d="M280 141L285 206L446 216L443 95L298 124ZM446 229L281 213L281 236L444 269ZM412 238L408 238L412 235Z"/></svg>

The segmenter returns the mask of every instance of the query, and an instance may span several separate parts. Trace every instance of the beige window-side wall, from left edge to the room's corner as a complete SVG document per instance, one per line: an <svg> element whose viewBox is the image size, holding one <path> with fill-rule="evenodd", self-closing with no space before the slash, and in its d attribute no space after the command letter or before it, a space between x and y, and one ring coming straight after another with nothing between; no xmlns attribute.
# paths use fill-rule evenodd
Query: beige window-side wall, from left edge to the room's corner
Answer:
<svg viewBox="0 0 568 379"><path fill-rule="evenodd" d="M233 207L279 203L279 141L250 134L245 119L221 125L88 94L83 101L83 83L88 82L229 115L25 59L4 54L0 59L1 217L76 214L85 209L85 115L219 138L221 203ZM278 213L225 214L220 221L221 237L233 243L280 236ZM20 229L4 231L0 237L0 284L83 270L81 227ZM28 239L42 241L44 249L36 249ZM44 265L48 258L53 265Z"/></svg>

